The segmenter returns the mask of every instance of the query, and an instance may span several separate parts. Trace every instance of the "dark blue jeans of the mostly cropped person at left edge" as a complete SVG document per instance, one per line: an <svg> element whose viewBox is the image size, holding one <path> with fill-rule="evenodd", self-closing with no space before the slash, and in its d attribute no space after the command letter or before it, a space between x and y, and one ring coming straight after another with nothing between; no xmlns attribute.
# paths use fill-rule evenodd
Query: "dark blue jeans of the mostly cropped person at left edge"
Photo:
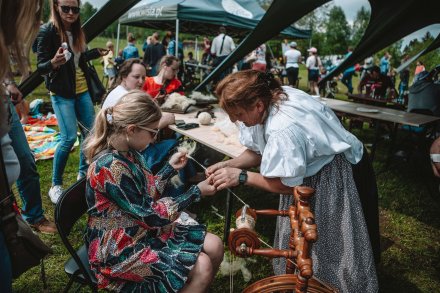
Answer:
<svg viewBox="0 0 440 293"><path fill-rule="evenodd" d="M14 105L9 103L12 112L12 125L9 136L12 147L20 162L20 176L17 180L17 189L23 203L21 210L23 218L30 224L43 219L44 211L41 204L40 175L37 172L35 159L26 140L20 118Z"/></svg>

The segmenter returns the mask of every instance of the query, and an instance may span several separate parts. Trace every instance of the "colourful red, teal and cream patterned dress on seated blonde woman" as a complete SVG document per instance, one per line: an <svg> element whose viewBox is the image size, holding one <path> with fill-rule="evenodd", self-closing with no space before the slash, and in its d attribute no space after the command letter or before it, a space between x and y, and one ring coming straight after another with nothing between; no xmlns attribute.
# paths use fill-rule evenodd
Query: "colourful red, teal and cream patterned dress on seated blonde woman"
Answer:
<svg viewBox="0 0 440 293"><path fill-rule="evenodd" d="M180 211L200 200L197 186L170 198L162 192L176 171L156 175L143 157L111 151L88 170L86 244L99 288L122 292L177 292L202 250L206 227L182 225Z"/></svg>

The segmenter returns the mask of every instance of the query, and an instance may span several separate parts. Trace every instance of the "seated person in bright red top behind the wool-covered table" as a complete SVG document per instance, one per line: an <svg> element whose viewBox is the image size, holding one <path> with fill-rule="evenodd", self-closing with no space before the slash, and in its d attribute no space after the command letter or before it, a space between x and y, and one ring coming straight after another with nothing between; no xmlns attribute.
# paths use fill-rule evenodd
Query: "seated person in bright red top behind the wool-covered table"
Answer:
<svg viewBox="0 0 440 293"><path fill-rule="evenodd" d="M173 55L163 56L159 62L159 73L147 77L143 90L153 97L159 105L163 104L167 96L173 92L183 95L182 83L177 79L180 60Z"/></svg>

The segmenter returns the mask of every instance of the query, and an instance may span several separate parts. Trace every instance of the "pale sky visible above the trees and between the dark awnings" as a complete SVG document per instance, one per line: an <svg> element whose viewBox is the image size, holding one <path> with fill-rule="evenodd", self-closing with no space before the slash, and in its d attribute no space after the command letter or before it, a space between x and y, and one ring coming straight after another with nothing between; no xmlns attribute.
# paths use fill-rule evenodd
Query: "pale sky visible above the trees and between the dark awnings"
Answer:
<svg viewBox="0 0 440 293"><path fill-rule="evenodd" d="M84 2L89 2L93 6L99 8L104 5L108 0L83 0ZM356 18L357 11L364 6L368 10L370 9L370 4L367 0L334 0L332 1L334 5L340 6L345 13L347 21L352 23ZM405 38L403 38L402 49L408 44L412 39L423 37L426 32L429 31L431 35L436 37L440 33L440 24L431 25L429 27L423 28L416 31Z"/></svg>

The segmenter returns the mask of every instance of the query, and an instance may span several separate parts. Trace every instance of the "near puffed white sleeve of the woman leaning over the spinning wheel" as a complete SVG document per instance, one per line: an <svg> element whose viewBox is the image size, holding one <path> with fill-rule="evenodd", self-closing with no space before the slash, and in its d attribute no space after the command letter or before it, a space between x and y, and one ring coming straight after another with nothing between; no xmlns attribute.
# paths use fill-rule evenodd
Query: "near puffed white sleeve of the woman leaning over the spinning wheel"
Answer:
<svg viewBox="0 0 440 293"><path fill-rule="evenodd" d="M273 133L264 148L260 173L280 178L286 186L302 184L307 166L306 141L292 128Z"/></svg>

